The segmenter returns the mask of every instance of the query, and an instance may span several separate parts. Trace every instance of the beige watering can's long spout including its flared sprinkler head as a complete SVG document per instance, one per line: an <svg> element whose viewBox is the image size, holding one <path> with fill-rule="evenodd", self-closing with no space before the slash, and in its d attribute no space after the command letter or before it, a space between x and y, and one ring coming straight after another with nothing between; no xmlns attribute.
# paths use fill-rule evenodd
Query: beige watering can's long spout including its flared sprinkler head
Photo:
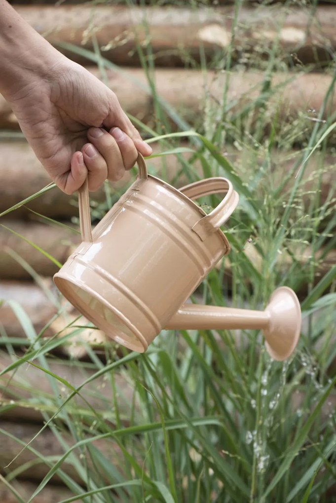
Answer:
<svg viewBox="0 0 336 503"><path fill-rule="evenodd" d="M293 353L300 337L301 309L288 287L273 293L265 311L188 304L170 319L167 329L261 329L266 349L274 360L283 361Z"/></svg>

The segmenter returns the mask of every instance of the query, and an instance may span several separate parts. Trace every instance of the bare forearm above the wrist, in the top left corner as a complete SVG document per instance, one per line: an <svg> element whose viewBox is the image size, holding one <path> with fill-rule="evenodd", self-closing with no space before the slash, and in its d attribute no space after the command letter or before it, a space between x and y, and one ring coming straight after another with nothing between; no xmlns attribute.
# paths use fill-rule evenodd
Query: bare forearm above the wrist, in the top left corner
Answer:
<svg viewBox="0 0 336 503"><path fill-rule="evenodd" d="M46 78L50 61L59 56L6 0L0 0L0 93L5 98Z"/></svg>

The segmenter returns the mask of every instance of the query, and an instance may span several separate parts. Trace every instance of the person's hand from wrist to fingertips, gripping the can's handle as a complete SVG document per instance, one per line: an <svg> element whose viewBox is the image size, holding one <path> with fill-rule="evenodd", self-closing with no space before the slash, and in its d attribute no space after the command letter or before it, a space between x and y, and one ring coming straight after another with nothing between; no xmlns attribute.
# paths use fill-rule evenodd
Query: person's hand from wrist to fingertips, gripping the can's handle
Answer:
<svg viewBox="0 0 336 503"><path fill-rule="evenodd" d="M52 56L49 73L22 79L7 100L56 185L72 194L88 177L95 191L106 179L122 178L138 152L152 150L109 88L60 53Z"/></svg>

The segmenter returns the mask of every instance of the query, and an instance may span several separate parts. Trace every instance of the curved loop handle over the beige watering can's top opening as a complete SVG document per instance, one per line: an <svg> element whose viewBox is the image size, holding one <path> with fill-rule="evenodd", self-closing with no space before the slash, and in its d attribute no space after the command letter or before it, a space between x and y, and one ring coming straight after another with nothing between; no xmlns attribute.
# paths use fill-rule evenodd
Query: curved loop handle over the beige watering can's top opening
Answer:
<svg viewBox="0 0 336 503"><path fill-rule="evenodd" d="M239 200L239 196L237 192L233 190L231 182L221 177L200 180L199 182L186 185L179 190L190 199L226 192L224 199L219 205L213 209L209 215L201 218L193 226L193 231L199 235L202 241L226 222L231 213L235 210Z"/></svg>

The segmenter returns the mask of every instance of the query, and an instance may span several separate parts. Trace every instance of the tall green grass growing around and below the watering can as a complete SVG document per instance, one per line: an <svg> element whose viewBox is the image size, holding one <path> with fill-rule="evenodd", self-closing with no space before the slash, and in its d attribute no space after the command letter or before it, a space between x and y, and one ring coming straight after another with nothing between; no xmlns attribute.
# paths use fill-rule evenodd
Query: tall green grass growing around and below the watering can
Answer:
<svg viewBox="0 0 336 503"><path fill-rule="evenodd" d="M236 2L236 11L240 5ZM72 49L85 53L101 69L113 67L97 44L94 53ZM71 489L73 499L59 503L75 499L85 503L331 503L336 500L327 493L336 480L336 376L334 364L332 367L336 358L336 267L323 277L316 277L316 272L327 251L335 247L336 181L323 204L318 192L335 117L330 114L326 122L312 124L305 118L305 110L289 122L275 114L265 132L265 121L270 121L267 104L275 91L270 77L284 69L275 43L267 62L259 61L265 74L259 96L238 110L227 100L227 88L219 105L205 96L195 133L194 124L186 123L178 110L160 99L151 77L154 59L150 47L147 52L138 50L158 125L153 131L135 119L136 125L160 151L178 157L180 174L186 180L224 176L240 194L239 208L226 227L231 252L200 286L198 299L259 309L276 287L286 284L301 299L303 328L298 349L289 361L272 361L261 334L249 330L163 331L143 355L122 348L117 355L116 346L109 344L102 348L103 358L83 342L88 361L67 363L82 374L81 384L73 387L51 370L57 361L54 352L62 341L44 338L43 331L37 334L20 306L13 304L27 342L20 344L1 332L3 352L13 355L13 363L1 374L13 370L15 382L15 372L31 362L41 379L48 380L51 391L31 389L29 377L27 382L18 378L12 396L10 387L2 384L0 391L7 389L9 397L0 405L0 413L17 405L40 411L44 425L38 435L42 437L43 430L50 429L64 454L49 459L20 439L18 452L29 450L32 459L41 459L47 467L36 494L54 474ZM232 67L232 51L221 55L226 68ZM204 62L202 69L206 71ZM326 71L331 74L332 68ZM288 78L292 76L288 70ZM336 73L320 116L335 78ZM182 140L188 141L183 149ZM290 171L282 173L284 159L293 147L295 162ZM190 149L195 153L190 154ZM234 155L224 155L226 149ZM312 187L308 193L306 166L316 151L319 156L309 176ZM276 167L274 157L280 159ZM162 156L162 177L165 166ZM150 159L148 169L153 169ZM117 198L118 194L107 192L107 203L95 207L95 217L102 216ZM218 198L205 203L213 206ZM258 266L244 253L247 241L258 252ZM302 264L298 257L308 245L310 258ZM289 259L286 266L284 255ZM228 268L230 276L225 274ZM78 332L74 327L74 334ZM104 387L95 386L102 380ZM92 385L94 391L87 392ZM125 386L131 390L127 399ZM30 398L22 394L27 389ZM100 398L104 407L93 407L93 398ZM71 448L64 442L66 434L72 439ZM97 447L102 442L104 449ZM9 486L14 475L24 473L20 456L8 468ZM75 477L68 474L65 463L71 465Z"/></svg>

